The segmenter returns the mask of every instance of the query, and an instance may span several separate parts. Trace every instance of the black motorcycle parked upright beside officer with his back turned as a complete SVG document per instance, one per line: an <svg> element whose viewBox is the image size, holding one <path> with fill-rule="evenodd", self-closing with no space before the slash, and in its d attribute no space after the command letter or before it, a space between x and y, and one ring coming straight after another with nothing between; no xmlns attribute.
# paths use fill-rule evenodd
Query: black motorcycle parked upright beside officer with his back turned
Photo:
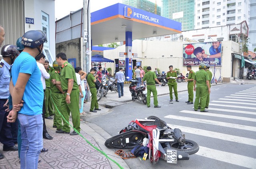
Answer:
<svg viewBox="0 0 256 169"><path fill-rule="evenodd" d="M130 79L129 77L126 77L126 79ZM129 90L132 95L132 100L139 100L140 102L143 102L144 104L147 104L147 91L145 86L137 86L138 81L135 79L130 80L131 82L129 86Z"/></svg>

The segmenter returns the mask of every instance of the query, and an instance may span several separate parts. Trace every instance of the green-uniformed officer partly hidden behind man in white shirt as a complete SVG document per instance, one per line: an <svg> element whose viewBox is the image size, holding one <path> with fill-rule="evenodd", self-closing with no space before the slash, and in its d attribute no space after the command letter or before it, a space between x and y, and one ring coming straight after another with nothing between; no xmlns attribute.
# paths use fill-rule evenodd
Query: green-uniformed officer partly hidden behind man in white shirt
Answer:
<svg viewBox="0 0 256 169"><path fill-rule="evenodd" d="M44 68L47 71L47 73L49 73L51 75L51 68L49 67L49 61L45 60L44 62ZM45 79L45 85L46 85L46 89L44 92L45 95L45 118L47 119L52 119L52 117L54 115L54 110L53 110L53 106L52 106L52 99L51 99L51 90L50 90L50 79Z"/></svg>

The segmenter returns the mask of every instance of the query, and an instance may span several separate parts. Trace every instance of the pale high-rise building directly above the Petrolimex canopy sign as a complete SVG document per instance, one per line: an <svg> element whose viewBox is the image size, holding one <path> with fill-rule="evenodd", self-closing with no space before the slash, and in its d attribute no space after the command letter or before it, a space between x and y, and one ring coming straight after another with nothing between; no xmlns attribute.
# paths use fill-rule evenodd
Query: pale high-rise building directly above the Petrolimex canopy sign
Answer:
<svg viewBox="0 0 256 169"><path fill-rule="evenodd" d="M161 8L148 0L123 0L123 4L161 16Z"/></svg>

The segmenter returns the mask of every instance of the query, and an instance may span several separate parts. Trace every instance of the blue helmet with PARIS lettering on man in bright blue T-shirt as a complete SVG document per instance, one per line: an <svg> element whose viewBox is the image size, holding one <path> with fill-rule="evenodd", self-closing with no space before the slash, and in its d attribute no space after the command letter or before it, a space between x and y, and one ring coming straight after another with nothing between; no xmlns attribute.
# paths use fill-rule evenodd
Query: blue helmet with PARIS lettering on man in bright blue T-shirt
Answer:
<svg viewBox="0 0 256 169"><path fill-rule="evenodd" d="M36 48L47 41L46 35L40 30L31 30L24 33L21 43L25 47Z"/></svg>

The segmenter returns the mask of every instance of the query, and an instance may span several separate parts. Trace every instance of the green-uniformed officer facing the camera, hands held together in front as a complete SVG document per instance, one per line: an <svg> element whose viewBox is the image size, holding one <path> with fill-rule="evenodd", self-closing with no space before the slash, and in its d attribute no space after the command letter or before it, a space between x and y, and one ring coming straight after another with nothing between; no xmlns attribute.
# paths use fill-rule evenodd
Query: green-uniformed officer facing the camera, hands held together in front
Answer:
<svg viewBox="0 0 256 169"><path fill-rule="evenodd" d="M177 73L175 71L173 71L173 66L170 65L169 66L169 70L166 74L166 79L168 80L168 86L169 86L169 91L170 91L170 102L172 102L172 88L174 90L174 95L175 95L175 100L176 102L178 101L178 91L177 91L177 83L176 83L176 79L177 79Z"/></svg>

